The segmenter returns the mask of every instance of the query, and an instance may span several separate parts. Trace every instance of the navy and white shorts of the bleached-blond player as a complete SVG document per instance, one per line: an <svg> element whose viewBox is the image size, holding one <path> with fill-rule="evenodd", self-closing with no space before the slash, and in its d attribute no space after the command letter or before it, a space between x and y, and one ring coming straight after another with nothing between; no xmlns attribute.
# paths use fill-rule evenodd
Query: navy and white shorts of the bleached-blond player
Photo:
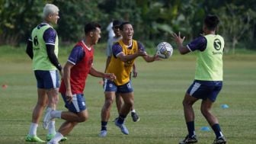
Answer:
<svg viewBox="0 0 256 144"><path fill-rule="evenodd" d="M35 70L34 75L37 78L37 88L59 88L59 73L57 70Z"/></svg>

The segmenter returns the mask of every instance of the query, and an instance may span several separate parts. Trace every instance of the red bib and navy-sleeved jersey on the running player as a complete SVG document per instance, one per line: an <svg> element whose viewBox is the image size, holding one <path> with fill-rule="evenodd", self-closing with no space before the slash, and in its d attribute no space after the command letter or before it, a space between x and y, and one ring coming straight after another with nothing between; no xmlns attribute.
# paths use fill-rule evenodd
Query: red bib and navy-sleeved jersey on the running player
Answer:
<svg viewBox="0 0 256 144"><path fill-rule="evenodd" d="M74 66L70 70L70 85L72 94L82 94L85 89L85 80L93 62L93 47L88 48L83 41L78 42L69 55L68 62ZM66 86L62 80L59 92L66 94Z"/></svg>

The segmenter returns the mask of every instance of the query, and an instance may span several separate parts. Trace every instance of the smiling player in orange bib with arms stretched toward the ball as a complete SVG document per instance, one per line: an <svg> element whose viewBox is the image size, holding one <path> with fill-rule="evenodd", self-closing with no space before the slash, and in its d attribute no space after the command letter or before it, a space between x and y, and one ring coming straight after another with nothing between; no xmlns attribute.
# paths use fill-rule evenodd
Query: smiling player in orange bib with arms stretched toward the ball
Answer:
<svg viewBox="0 0 256 144"><path fill-rule="evenodd" d="M142 56L146 62L154 62L159 59L158 56L149 56L142 43L133 40L133 25L130 22L123 22L120 25L120 33L123 38L112 47L113 56L111 56L106 71L114 73L117 79L114 82L106 79L104 82L105 103L101 109L101 132L99 134L101 137L107 136L107 121L110 118L112 105L110 101L114 99L116 92L123 98L124 104L120 109L119 117L115 120L115 124L122 133L129 134L123 122L133 107L133 86L130 82L133 62L138 56Z"/></svg>

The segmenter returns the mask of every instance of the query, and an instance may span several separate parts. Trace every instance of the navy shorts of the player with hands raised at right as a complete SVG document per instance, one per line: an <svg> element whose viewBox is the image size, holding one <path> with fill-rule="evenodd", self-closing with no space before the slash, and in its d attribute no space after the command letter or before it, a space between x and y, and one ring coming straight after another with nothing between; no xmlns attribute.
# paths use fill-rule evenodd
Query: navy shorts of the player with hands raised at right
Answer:
<svg viewBox="0 0 256 144"><path fill-rule="evenodd" d="M199 81L194 80L190 88L187 89L187 94L198 99L216 101L219 91L222 89L222 81Z"/></svg>

